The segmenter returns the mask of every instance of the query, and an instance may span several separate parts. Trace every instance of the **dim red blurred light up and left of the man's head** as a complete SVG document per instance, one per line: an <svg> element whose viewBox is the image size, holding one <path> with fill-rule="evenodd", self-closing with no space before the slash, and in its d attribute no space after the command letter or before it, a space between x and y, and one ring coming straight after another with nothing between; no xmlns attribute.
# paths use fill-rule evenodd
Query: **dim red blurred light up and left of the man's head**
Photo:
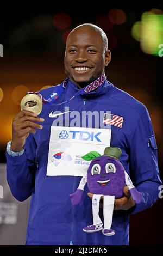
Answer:
<svg viewBox="0 0 163 256"><path fill-rule="evenodd" d="M53 18L53 25L54 27L64 30L71 26L72 19L70 15L66 13L59 13L56 14Z"/></svg>

